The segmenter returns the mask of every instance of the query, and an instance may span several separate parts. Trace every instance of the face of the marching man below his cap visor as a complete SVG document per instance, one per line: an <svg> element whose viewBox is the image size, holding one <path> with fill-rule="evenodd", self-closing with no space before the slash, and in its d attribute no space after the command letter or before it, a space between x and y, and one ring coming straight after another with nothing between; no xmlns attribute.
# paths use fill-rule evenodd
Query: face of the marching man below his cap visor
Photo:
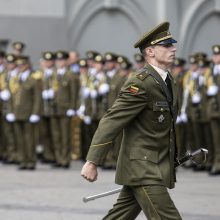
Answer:
<svg viewBox="0 0 220 220"><path fill-rule="evenodd" d="M176 47L173 44L156 45L153 49L157 63L166 66L173 64L176 54Z"/></svg>

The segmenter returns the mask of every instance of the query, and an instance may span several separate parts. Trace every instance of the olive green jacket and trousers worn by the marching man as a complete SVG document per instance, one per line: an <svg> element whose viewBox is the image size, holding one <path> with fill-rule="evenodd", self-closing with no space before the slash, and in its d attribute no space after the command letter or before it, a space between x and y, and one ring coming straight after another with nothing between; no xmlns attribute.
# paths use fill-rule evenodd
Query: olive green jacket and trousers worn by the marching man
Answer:
<svg viewBox="0 0 220 220"><path fill-rule="evenodd" d="M134 219L141 208L149 219L153 216L160 219L158 215L164 210L160 210L154 202L158 203L158 196L166 191L163 186L174 187L175 119L171 117L160 85L150 75L152 72L158 75L147 65L143 73L126 82L115 104L101 120L87 156L88 161L101 164L113 140L124 128L116 169L116 183L124 187L117 204L104 219ZM176 91L174 82L172 87ZM176 92L173 96L175 107ZM167 204L168 213L172 214L173 210L173 216L167 219L181 219L170 198L165 198L164 204ZM133 218L130 218L129 212L123 214L125 208L133 213Z"/></svg>

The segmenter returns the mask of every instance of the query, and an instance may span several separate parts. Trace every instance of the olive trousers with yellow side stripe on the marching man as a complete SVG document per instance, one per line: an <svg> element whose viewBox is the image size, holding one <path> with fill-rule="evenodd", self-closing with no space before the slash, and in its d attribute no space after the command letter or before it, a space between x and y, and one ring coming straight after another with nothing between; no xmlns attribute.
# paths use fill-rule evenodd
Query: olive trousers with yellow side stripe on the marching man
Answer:
<svg viewBox="0 0 220 220"><path fill-rule="evenodd" d="M116 204L103 220L134 220L143 210L148 220L181 220L162 185L123 186Z"/></svg>

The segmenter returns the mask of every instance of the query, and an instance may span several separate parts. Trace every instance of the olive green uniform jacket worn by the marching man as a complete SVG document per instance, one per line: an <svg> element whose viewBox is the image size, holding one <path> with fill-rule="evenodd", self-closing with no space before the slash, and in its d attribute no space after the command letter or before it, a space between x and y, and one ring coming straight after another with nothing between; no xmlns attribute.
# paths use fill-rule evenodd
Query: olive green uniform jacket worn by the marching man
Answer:
<svg viewBox="0 0 220 220"><path fill-rule="evenodd" d="M173 78L171 82L172 108L177 110L176 83ZM147 64L141 73L126 81L116 102L100 121L87 160L102 164L114 138L123 130L117 184L174 187L176 113L171 116L162 84L166 87L156 70Z"/></svg>

